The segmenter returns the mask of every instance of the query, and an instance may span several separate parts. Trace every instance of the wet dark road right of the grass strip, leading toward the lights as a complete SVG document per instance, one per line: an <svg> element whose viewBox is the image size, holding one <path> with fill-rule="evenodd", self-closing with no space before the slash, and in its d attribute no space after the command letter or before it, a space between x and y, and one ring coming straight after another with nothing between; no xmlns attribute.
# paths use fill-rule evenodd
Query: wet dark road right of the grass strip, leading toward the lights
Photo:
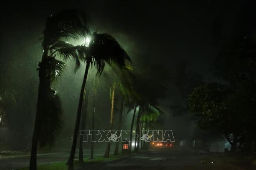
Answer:
<svg viewBox="0 0 256 170"><path fill-rule="evenodd" d="M224 153L196 152L193 149L172 147L138 153L125 160L105 163L84 169L97 170L254 170L255 167L223 163ZM216 162L215 162L216 160ZM217 161L218 160L218 161ZM82 168L83 169L83 168ZM82 170L81 169L81 170Z"/></svg>

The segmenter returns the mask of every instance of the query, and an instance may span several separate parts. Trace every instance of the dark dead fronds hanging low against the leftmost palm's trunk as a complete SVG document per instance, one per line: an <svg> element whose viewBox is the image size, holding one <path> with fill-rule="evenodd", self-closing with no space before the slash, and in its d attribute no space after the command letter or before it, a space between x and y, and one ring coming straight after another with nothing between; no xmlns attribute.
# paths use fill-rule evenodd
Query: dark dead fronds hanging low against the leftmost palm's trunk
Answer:
<svg viewBox="0 0 256 170"><path fill-rule="evenodd" d="M46 145L54 144L56 136L64 127L62 119L63 110L61 107L60 98L56 91L51 89L50 94L45 98L38 114L38 146L40 148Z"/></svg>

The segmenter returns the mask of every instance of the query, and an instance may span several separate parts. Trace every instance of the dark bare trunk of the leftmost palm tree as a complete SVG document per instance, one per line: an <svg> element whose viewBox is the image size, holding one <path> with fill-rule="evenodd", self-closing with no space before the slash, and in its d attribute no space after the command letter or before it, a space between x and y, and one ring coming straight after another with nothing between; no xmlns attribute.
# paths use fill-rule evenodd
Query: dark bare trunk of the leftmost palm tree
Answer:
<svg viewBox="0 0 256 170"><path fill-rule="evenodd" d="M40 129L40 116L44 106L46 96L50 92L50 76L47 76L46 70L49 67L49 59L47 58L47 50L45 50L42 61L38 64L39 65L39 87L38 87L38 98L37 98L37 111L35 116L35 125L32 135L32 146L31 146L31 155L30 155L30 164L29 169L30 170L36 170L37 169L37 142L38 142L38 134Z"/></svg>

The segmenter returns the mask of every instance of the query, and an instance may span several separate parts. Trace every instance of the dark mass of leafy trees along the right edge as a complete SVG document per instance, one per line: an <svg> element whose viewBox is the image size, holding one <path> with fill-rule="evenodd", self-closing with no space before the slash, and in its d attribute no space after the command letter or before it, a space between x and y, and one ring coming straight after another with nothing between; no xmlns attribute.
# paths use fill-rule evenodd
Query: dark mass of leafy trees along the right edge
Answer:
<svg viewBox="0 0 256 170"><path fill-rule="evenodd" d="M194 88L188 97L199 126L225 134L234 150L237 143L243 147L244 142L256 140L256 25L250 21L252 11L243 11L238 18L243 24L219 44L215 83Z"/></svg>

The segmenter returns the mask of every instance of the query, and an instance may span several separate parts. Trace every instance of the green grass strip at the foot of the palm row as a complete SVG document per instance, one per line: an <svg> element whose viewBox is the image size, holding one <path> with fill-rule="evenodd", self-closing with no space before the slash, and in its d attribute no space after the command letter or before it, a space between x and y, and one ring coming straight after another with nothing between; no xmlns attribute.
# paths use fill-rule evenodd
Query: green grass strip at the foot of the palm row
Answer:
<svg viewBox="0 0 256 170"><path fill-rule="evenodd" d="M125 156L127 155L110 155L109 158L104 158L102 155L102 156L95 157L94 159L84 158L83 163L80 163L78 160L74 160L74 167L79 168L82 166L93 165L95 163L109 162L111 160L116 160ZM67 161L51 163L47 165L39 165L37 166L37 170L68 170L66 162ZM18 170L28 170L28 169L29 168L20 168Z"/></svg>

